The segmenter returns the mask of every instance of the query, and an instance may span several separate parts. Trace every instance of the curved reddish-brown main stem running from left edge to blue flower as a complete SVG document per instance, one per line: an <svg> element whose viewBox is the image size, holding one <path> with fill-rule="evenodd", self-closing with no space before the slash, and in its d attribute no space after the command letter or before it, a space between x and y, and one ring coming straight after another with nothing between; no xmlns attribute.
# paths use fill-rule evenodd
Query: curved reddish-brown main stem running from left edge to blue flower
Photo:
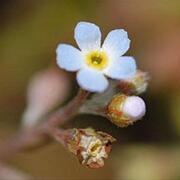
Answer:
<svg viewBox="0 0 180 180"><path fill-rule="evenodd" d="M66 106L52 113L44 123L33 129L25 129L9 139L5 144L0 145L0 161L7 161L13 155L29 147L37 147L44 143L49 137L52 127L57 127L67 122L78 112L78 109L86 101L89 92L79 90L77 96Z"/></svg>

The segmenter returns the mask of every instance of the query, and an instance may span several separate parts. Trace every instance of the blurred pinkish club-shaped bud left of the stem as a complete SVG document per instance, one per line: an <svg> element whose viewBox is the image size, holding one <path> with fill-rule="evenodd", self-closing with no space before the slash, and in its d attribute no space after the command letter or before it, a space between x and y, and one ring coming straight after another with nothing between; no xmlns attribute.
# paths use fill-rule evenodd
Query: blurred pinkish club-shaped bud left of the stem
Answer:
<svg viewBox="0 0 180 180"><path fill-rule="evenodd" d="M27 108L22 118L23 126L36 125L40 118L64 101L69 88L69 79L63 71L48 69L37 73L28 86Z"/></svg>

